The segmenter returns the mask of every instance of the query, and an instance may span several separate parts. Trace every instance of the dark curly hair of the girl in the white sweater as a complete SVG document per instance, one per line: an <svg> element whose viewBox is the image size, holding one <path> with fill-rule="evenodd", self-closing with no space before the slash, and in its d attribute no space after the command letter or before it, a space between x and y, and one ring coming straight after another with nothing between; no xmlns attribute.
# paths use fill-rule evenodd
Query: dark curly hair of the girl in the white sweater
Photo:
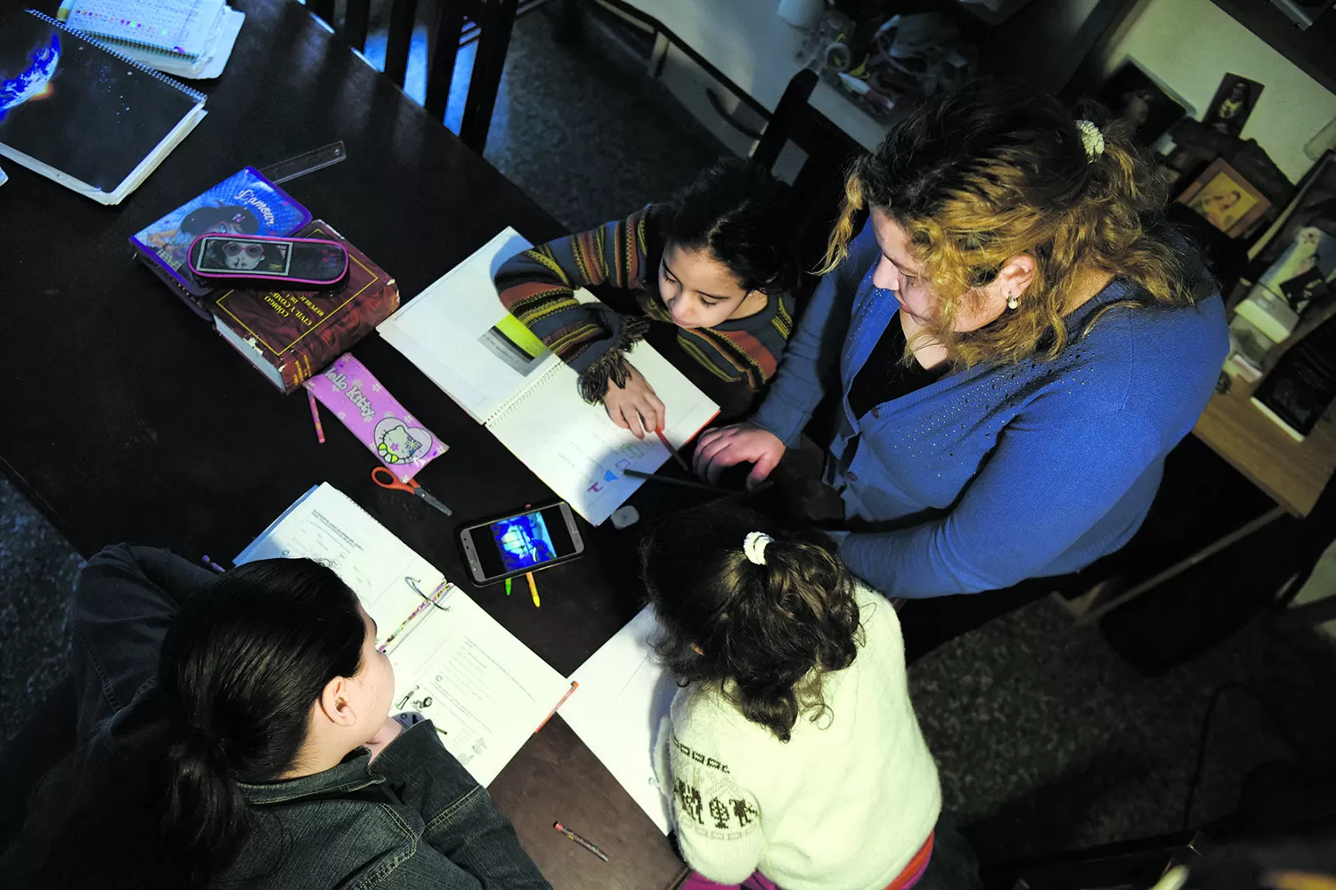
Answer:
<svg viewBox="0 0 1336 890"><path fill-rule="evenodd" d="M764 564L743 552L748 532L772 538ZM754 510L705 504L665 519L641 550L663 624L655 650L677 682L717 683L743 715L787 742L803 713L828 709L808 671L854 662L854 578L820 532L784 532ZM699 651L697 651L699 648Z"/></svg>

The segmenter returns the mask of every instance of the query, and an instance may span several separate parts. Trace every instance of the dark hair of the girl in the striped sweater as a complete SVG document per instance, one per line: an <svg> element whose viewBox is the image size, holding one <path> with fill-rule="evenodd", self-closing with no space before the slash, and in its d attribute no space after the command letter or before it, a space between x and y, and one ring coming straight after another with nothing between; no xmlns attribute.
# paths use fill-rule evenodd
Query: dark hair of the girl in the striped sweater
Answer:
<svg viewBox="0 0 1336 890"><path fill-rule="evenodd" d="M716 161L660 207L657 217L669 244L708 248L743 290L780 294L798 286L787 188L744 159Z"/></svg>

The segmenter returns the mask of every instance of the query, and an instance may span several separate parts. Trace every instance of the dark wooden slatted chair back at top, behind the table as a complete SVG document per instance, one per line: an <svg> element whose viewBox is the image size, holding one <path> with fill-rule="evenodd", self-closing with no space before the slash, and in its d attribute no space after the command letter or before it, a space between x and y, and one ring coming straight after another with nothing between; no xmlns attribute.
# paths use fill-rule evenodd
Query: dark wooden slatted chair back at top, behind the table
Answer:
<svg viewBox="0 0 1336 890"><path fill-rule="evenodd" d="M434 5L433 25L428 35L426 109L438 119L445 117L450 100L450 80L460 51L460 36L465 20L480 31L478 51L469 77L469 93L464 105L460 139L482 153L492 125L497 89L510 31L514 27L518 0L429 0ZM390 0L389 35L385 43L385 76L403 85L409 67L409 45L413 40L413 21L418 0ZM334 0L309 0L306 4L319 19L330 24L358 52L366 49L366 29L371 0L347 0L347 13L342 32L334 21Z"/></svg>

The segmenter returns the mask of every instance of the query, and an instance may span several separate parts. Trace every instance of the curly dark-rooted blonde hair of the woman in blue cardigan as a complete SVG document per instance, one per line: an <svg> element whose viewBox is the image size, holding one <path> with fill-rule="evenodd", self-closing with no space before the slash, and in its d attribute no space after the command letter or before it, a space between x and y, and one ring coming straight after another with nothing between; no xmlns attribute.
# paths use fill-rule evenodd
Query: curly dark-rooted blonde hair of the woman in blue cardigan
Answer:
<svg viewBox="0 0 1336 890"><path fill-rule="evenodd" d="M1104 136L1094 159L1078 117ZM1124 306L1190 306L1210 294L1213 283L1165 207L1165 185L1126 121L1094 103L1073 115L1029 87L979 80L925 100L854 161L820 271L848 255L859 213L880 208L904 228L933 283L939 312L927 334L953 362L1054 358L1067 343L1062 316L1089 270L1141 287L1142 296ZM1022 254L1034 258L1035 272L1019 306L977 331L953 331L975 288Z"/></svg>

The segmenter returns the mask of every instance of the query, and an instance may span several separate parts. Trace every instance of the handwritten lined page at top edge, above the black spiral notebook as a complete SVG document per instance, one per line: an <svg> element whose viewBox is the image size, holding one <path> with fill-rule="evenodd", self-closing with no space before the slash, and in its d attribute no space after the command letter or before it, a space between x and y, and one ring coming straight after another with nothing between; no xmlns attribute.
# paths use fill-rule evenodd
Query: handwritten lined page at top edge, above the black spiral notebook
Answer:
<svg viewBox="0 0 1336 890"><path fill-rule="evenodd" d="M67 24L106 40L198 56L208 45L223 0L79 0Z"/></svg>

